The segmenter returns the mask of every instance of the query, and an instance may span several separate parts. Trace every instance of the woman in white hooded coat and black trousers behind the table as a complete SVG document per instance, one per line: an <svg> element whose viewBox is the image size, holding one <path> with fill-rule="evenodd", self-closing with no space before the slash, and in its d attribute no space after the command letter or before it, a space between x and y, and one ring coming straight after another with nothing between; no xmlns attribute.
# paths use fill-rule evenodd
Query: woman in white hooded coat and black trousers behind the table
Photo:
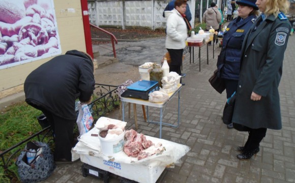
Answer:
<svg viewBox="0 0 295 183"><path fill-rule="evenodd" d="M165 17L167 17L165 46L171 57L169 70L179 75L181 75L183 49L186 46L185 41L188 36L187 25L184 20L186 6L186 0L176 0L174 9L165 11ZM184 83L182 84L184 85Z"/></svg>

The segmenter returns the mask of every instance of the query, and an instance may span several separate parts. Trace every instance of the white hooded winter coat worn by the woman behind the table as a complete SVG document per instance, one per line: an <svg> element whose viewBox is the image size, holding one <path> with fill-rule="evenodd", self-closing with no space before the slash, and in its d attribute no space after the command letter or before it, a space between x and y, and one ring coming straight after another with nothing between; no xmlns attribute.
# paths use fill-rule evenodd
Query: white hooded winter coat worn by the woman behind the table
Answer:
<svg viewBox="0 0 295 183"><path fill-rule="evenodd" d="M185 41L188 37L184 18L176 9L165 11L165 17L167 17L166 48L183 49L186 46Z"/></svg>

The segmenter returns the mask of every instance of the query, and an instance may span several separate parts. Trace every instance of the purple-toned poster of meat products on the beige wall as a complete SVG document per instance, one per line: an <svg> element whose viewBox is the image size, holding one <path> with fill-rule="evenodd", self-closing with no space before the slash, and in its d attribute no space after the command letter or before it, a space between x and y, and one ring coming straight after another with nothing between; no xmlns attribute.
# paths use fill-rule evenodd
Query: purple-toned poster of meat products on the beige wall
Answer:
<svg viewBox="0 0 295 183"><path fill-rule="evenodd" d="M0 0L0 69L61 53L53 0Z"/></svg>

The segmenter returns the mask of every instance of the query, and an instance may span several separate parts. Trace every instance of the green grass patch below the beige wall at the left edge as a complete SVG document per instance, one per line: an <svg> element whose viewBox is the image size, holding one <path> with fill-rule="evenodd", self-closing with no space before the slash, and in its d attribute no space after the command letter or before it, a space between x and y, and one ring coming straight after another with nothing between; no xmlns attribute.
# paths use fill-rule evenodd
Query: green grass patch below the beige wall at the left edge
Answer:
<svg viewBox="0 0 295 183"><path fill-rule="evenodd" d="M0 114L0 152L16 145L17 143L27 139L36 132L42 130L38 123L37 116L42 114L40 110L37 110L25 102L20 102L7 107L1 111ZM25 144L20 146L23 149ZM14 153L16 150L12 150L11 153L7 153L5 159ZM9 162L8 169L12 172L9 176L13 177L12 180L4 174L4 169L0 166L0 182L18 182L17 178L17 166L14 164L16 157ZM2 161L0 161L2 164Z"/></svg>

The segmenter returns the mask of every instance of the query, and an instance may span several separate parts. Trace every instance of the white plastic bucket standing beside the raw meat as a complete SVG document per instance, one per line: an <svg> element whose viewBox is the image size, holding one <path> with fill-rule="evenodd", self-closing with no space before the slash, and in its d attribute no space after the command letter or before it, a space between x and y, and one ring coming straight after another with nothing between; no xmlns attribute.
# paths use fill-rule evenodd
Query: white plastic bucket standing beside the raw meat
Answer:
<svg viewBox="0 0 295 183"><path fill-rule="evenodd" d="M101 136L98 136L102 154L106 156L112 156L115 153L119 153L120 151L122 151L124 147L124 135L125 131L119 136L112 139L105 139Z"/></svg>

